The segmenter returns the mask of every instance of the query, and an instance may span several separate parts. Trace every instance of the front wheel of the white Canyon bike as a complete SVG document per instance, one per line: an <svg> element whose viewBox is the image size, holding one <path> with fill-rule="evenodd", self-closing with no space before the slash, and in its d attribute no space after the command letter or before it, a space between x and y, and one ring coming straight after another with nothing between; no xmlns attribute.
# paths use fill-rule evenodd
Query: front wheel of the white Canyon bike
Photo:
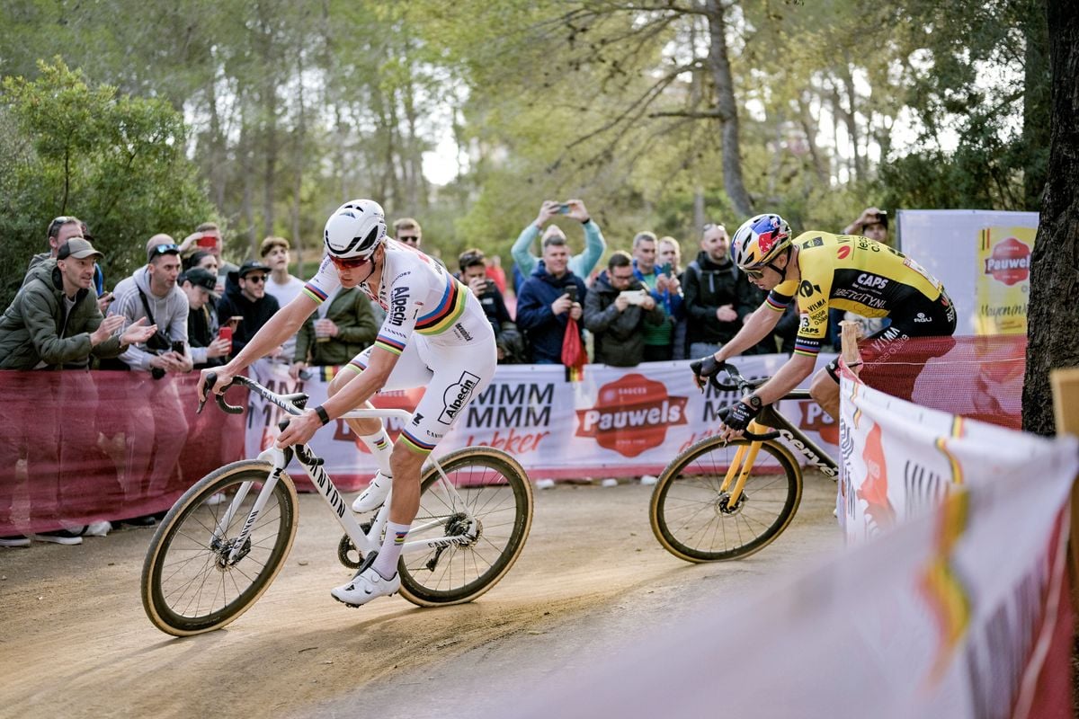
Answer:
<svg viewBox="0 0 1079 719"><path fill-rule="evenodd" d="M296 486L282 473L251 526L237 561L229 561L271 471L268 462L227 465L200 480L168 511L142 565L142 607L162 632L217 630L247 611L273 581L292 547ZM223 533L215 537L244 483L251 483Z"/></svg>

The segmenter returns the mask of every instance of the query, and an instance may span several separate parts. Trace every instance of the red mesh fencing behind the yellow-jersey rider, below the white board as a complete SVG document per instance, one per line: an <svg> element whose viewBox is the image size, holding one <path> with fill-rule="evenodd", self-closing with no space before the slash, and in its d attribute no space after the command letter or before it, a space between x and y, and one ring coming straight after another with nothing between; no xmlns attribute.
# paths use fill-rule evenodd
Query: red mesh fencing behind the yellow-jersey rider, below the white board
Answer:
<svg viewBox="0 0 1079 719"><path fill-rule="evenodd" d="M1026 336L863 343L861 378L892 397L1010 429L1023 424Z"/></svg>

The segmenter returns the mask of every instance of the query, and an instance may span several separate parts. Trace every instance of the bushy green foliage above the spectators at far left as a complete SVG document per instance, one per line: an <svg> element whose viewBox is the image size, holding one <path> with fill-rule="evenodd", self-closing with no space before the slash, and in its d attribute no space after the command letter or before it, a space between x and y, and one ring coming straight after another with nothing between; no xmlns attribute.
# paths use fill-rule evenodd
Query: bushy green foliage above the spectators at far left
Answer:
<svg viewBox="0 0 1079 719"><path fill-rule="evenodd" d="M158 232L177 239L213 215L185 156L182 117L161 100L132 98L56 58L39 77L5 78L0 96L0 302L47 251L53 217L85 221L112 287L146 261Z"/></svg>

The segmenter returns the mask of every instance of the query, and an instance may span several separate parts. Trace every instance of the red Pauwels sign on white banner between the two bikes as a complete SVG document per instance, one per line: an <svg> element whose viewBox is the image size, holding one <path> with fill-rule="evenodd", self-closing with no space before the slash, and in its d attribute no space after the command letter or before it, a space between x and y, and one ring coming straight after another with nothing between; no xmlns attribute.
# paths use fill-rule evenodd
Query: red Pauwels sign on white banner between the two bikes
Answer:
<svg viewBox="0 0 1079 719"><path fill-rule="evenodd" d="M668 427L686 424L685 402L685 397L670 397L663 383L627 374L603 385L595 406L576 411L576 435L636 457L663 444Z"/></svg>

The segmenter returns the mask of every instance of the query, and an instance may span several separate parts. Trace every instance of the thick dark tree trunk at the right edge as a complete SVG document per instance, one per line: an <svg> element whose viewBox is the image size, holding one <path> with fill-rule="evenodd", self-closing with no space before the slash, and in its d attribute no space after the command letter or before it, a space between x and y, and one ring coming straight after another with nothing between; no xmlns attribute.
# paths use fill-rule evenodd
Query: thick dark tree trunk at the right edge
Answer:
<svg viewBox="0 0 1079 719"><path fill-rule="evenodd" d="M1055 433L1049 371L1079 365L1079 3L1048 0L1049 170L1030 262L1023 429Z"/></svg>

